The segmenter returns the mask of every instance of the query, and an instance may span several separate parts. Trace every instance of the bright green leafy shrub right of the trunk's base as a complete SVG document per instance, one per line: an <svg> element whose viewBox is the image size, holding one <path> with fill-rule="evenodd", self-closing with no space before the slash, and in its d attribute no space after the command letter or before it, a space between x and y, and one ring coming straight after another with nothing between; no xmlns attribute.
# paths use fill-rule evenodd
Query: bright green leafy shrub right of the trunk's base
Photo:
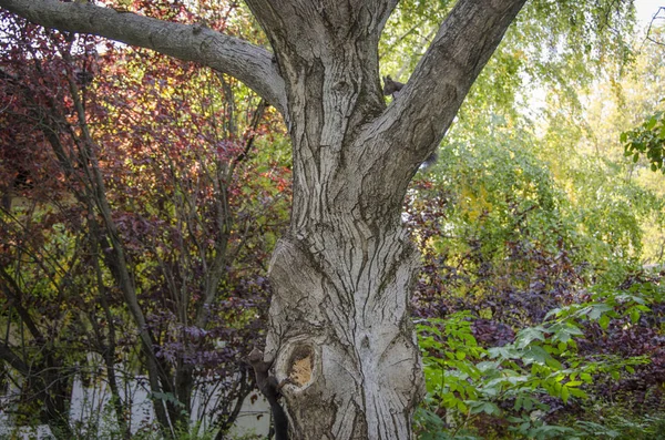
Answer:
<svg viewBox="0 0 665 440"><path fill-rule="evenodd" d="M428 398L417 415L421 439L528 437L572 438L580 429L551 423L560 409L574 408L605 378L630 378L648 365L644 352L591 352L581 341L590 326L607 329L647 311L641 293L600 293L591 300L557 308L544 324L516 332L490 348L473 336L468 311L418 325ZM487 325L481 320L480 325ZM478 327L478 326L475 326ZM499 328L499 326L497 327Z"/></svg>

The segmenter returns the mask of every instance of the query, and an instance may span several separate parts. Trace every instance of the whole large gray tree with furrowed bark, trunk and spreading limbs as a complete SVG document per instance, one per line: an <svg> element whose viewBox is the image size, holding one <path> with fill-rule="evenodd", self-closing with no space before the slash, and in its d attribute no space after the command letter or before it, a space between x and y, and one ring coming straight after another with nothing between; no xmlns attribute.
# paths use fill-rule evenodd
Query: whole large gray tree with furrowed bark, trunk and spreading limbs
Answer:
<svg viewBox="0 0 665 440"><path fill-rule="evenodd" d="M183 57L164 43L166 29L181 29L171 23L154 23L149 41L122 40L228 64L225 72L277 102L287 120L294 201L289 232L270 264L266 355L278 381L293 379L283 388L293 438L411 438L410 419L423 395L409 315L419 258L400 223L402 199L524 1L458 1L388 108L377 44L395 0L247 0L275 53L272 63L262 52L262 79L242 69L250 58L247 43L237 59L221 49ZM48 4L49 17L34 3ZM53 3L0 0L47 25L62 25L55 9L101 17L99 8ZM132 16L114 16L104 31L99 22L66 29L124 38L115 28L136 25ZM208 34L222 45L239 44Z"/></svg>

